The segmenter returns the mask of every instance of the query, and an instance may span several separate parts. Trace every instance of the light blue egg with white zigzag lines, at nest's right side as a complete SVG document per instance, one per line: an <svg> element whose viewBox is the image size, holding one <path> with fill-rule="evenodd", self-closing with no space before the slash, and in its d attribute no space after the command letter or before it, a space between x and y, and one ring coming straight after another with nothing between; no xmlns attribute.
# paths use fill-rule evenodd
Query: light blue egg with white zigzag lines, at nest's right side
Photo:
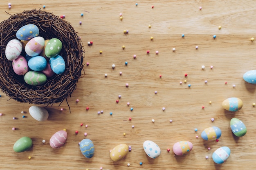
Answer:
<svg viewBox="0 0 256 170"><path fill-rule="evenodd" d="M62 74L65 71L65 68L66 68L65 61L63 57L61 57L60 55L50 58L49 63L54 73Z"/></svg>

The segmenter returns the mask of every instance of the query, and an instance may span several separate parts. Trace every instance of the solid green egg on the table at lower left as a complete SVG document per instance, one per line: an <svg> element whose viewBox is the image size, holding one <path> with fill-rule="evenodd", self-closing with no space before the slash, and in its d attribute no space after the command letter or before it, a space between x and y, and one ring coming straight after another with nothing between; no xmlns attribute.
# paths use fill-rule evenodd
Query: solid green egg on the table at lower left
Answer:
<svg viewBox="0 0 256 170"><path fill-rule="evenodd" d="M13 150L15 152L24 152L29 150L32 146L32 140L29 137L21 137L13 145Z"/></svg>

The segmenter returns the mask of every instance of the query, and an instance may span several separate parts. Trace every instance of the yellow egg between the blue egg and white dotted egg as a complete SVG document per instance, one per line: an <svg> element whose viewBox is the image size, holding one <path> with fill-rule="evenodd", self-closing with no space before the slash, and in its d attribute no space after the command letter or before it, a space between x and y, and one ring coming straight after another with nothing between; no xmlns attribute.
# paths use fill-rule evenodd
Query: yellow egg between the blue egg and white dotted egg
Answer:
<svg viewBox="0 0 256 170"><path fill-rule="evenodd" d="M110 151L110 158L113 161L120 161L127 155L128 150L129 148L126 144L117 145Z"/></svg>

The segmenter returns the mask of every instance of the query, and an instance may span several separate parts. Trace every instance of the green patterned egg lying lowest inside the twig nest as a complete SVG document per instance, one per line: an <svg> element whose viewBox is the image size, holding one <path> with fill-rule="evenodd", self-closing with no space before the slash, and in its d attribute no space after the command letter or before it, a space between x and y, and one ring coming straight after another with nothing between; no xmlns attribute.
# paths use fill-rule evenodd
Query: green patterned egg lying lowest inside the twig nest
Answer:
<svg viewBox="0 0 256 170"><path fill-rule="evenodd" d="M47 81L47 77L41 72L29 71L25 74L24 80L29 85L42 85Z"/></svg>

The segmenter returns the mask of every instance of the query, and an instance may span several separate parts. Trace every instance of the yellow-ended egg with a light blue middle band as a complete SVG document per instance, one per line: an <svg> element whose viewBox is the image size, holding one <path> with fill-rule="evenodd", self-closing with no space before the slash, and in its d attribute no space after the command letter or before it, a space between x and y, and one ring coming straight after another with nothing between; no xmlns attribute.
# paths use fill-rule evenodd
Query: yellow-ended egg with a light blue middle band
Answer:
<svg viewBox="0 0 256 170"><path fill-rule="evenodd" d="M243 107L243 101L240 98L227 98L222 102L222 107L228 111L238 111Z"/></svg>

